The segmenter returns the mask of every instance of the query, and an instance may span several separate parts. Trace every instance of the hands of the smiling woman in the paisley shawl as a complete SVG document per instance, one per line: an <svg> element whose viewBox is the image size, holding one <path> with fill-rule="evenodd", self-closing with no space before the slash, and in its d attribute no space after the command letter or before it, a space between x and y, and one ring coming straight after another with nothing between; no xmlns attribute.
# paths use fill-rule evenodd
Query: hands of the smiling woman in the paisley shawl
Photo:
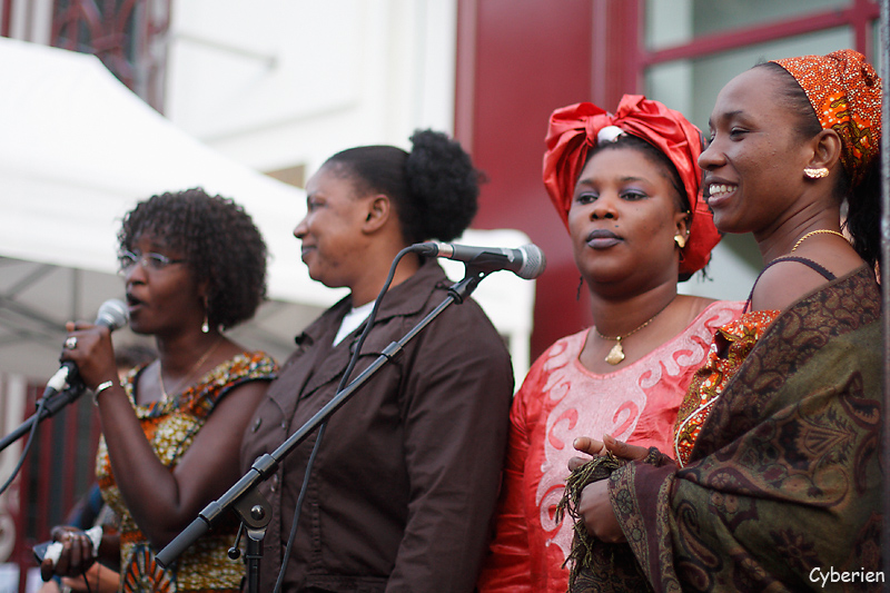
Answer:
<svg viewBox="0 0 890 593"><path fill-rule="evenodd" d="M629 445L621 441L615 441L610 435L603 435L602 441L596 441L589 436L580 436L572 444L576 451L599 457L606 453L612 453L615 457L625 462L642 459L649 449L637 445ZM572 457L568 459L568 471L574 472L590 457ZM581 493L581 502L577 507L578 513L584 518L587 533L606 543L622 543L627 540L619 525L615 513L612 511L612 502L609 500L609 482L601 480L584 487Z"/></svg>

